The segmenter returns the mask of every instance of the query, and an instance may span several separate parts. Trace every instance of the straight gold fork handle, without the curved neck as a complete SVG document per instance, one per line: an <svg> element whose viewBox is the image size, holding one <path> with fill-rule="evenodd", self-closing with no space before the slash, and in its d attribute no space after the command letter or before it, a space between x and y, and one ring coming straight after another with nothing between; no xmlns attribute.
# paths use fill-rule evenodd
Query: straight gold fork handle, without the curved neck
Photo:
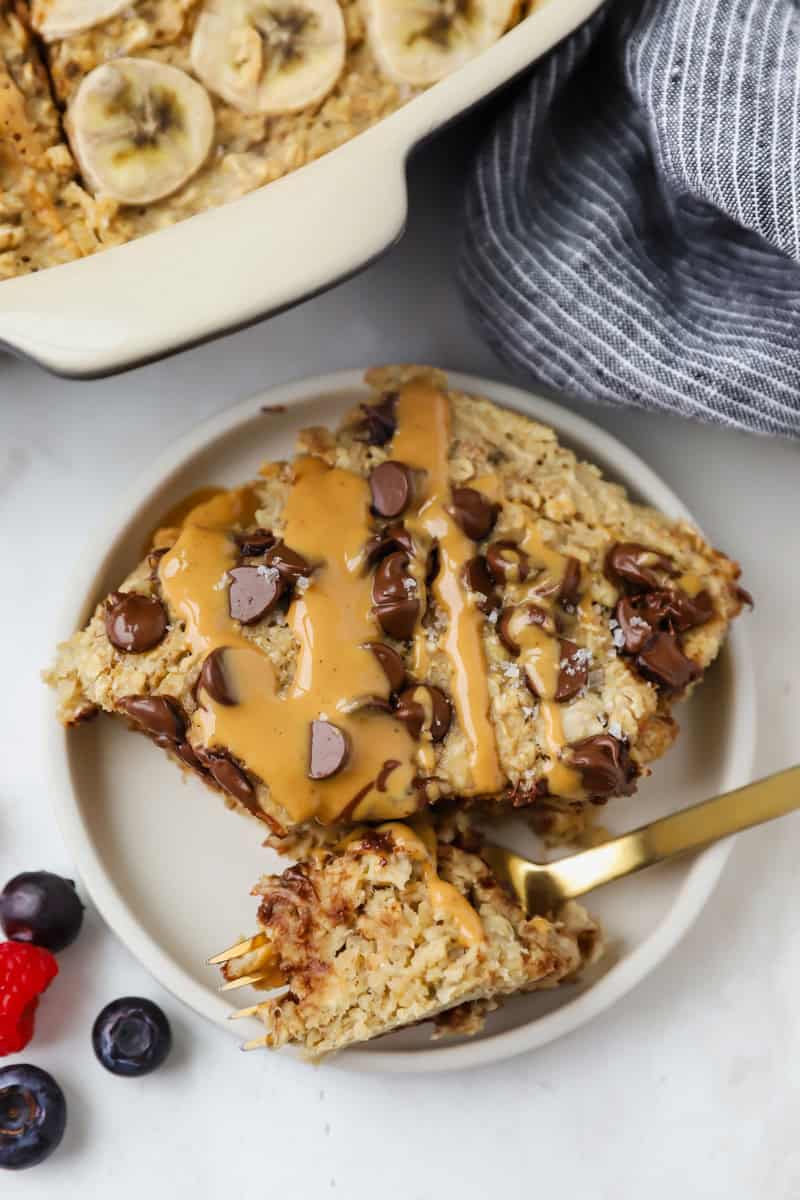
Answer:
<svg viewBox="0 0 800 1200"><path fill-rule="evenodd" d="M552 864L565 899L800 809L800 767L704 800Z"/></svg>

